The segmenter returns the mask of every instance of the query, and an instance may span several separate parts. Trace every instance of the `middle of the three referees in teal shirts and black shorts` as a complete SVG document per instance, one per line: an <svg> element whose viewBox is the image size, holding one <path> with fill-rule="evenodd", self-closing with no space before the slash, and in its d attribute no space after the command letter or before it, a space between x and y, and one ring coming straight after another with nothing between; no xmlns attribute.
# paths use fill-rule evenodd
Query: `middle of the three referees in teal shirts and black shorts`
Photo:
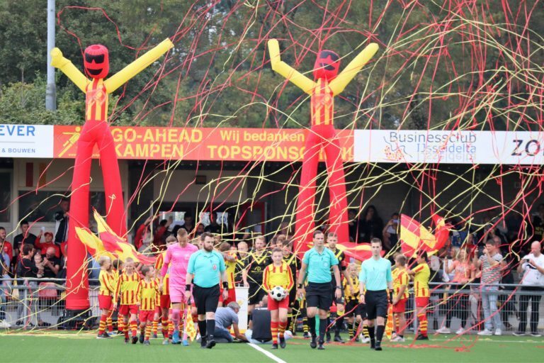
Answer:
<svg viewBox="0 0 544 363"><path fill-rule="evenodd" d="M331 292L331 268L336 280L334 296L339 299L342 297L342 287L340 281L340 270L338 268L338 259L334 253L325 248L324 234L320 230L314 232L314 247L307 250L302 257L302 267L298 274L297 296L303 298L306 296L306 314L312 340L310 347L324 350L323 347L325 330L327 330L327 312L332 305ZM307 279L308 285L305 290L302 283ZM316 342L315 333L315 315L319 311L319 346Z"/></svg>

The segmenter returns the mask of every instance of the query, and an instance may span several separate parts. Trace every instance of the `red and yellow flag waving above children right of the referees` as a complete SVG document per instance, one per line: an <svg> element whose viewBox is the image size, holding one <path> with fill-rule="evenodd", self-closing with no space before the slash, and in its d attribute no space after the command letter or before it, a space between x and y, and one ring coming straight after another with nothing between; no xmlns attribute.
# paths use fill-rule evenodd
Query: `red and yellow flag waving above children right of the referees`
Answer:
<svg viewBox="0 0 544 363"><path fill-rule="evenodd" d="M402 253L407 257L416 257L418 252L427 252L433 255L438 252L448 241L450 226L446 225L444 218L433 215L436 225L435 233L409 216L400 216L400 245Z"/></svg>

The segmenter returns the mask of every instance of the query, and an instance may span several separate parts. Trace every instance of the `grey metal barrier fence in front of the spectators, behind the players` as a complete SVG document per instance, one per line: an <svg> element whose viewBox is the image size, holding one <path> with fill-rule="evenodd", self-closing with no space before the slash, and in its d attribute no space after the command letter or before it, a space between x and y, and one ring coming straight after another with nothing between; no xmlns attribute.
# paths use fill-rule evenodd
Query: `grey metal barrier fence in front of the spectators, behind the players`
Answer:
<svg viewBox="0 0 544 363"><path fill-rule="evenodd" d="M65 313L65 287L62 279L0 279L0 320L11 328L33 328L36 325L62 326ZM98 308L98 281L89 281L89 301L91 308L87 314L89 325L100 315ZM430 284L431 297L426 315L429 333L448 328L452 333L463 325L464 333L477 333L486 321L492 322L493 329L501 328L502 333L519 330L519 322L526 319L526 331L531 333L529 321L538 301L540 312L536 316L537 328L544 327L544 291L526 291L521 285L502 284L482 286L467 284ZM531 301L529 301L531 300ZM489 313L485 301L489 301ZM417 330L418 319L414 310L414 295L410 294L406 309L406 328ZM489 316L489 318L485 318ZM535 316L533 315L533 319ZM114 316L115 320L115 316ZM45 323L45 324L42 324ZM1 324L1 322L0 322ZM497 325L498 324L498 325ZM489 325L489 323L488 323ZM0 328L7 328L1 326ZM445 330L439 330L445 331Z"/></svg>

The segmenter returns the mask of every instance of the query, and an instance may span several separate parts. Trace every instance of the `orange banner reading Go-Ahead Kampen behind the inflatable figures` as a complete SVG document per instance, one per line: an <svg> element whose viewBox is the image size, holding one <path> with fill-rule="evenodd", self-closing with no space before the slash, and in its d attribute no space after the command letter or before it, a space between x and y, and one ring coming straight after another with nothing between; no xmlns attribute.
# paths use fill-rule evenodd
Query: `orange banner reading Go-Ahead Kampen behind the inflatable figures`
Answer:
<svg viewBox="0 0 544 363"><path fill-rule="evenodd" d="M81 126L55 126L54 157L74 158ZM307 129L113 127L119 159L277 161L302 160ZM344 161L353 161L353 131L340 130ZM320 155L324 160L324 152ZM95 146L93 157L98 157Z"/></svg>

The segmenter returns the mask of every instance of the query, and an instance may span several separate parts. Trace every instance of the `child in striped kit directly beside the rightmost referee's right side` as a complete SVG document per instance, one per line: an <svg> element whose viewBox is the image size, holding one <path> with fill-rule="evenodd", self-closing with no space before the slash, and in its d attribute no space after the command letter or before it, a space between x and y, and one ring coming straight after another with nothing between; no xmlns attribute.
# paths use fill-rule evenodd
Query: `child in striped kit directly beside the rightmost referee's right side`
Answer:
<svg viewBox="0 0 544 363"><path fill-rule="evenodd" d="M406 257L404 255L397 255L395 257L396 268L391 272L393 276L393 326L397 336L393 338L392 342L404 342L404 328L406 328L406 301L410 294L408 272L406 270Z"/></svg>

